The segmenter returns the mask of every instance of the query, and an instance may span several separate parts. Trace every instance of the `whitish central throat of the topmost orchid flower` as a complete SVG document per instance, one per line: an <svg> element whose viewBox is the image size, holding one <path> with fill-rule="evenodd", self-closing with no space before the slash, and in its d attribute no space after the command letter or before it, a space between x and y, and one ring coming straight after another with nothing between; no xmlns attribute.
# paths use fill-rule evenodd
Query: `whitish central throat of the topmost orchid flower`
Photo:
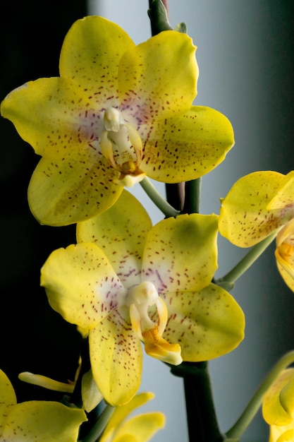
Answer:
<svg viewBox="0 0 294 442"><path fill-rule="evenodd" d="M121 173L120 184L130 187L140 182L145 174L139 169L142 141L137 130L124 121L115 107L105 110L104 129L100 138L102 155Z"/></svg>

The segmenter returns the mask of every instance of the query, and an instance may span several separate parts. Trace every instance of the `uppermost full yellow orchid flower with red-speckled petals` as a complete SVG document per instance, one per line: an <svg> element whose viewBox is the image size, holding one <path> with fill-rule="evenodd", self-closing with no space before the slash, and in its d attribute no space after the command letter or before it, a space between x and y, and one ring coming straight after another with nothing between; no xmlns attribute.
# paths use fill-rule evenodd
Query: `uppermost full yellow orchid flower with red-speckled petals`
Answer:
<svg viewBox="0 0 294 442"><path fill-rule="evenodd" d="M42 156L28 189L42 224L90 219L145 175L169 183L200 177L233 146L226 117L192 106L198 68L188 35L164 31L136 46L115 23L86 17L68 31L59 70L1 104Z"/></svg>

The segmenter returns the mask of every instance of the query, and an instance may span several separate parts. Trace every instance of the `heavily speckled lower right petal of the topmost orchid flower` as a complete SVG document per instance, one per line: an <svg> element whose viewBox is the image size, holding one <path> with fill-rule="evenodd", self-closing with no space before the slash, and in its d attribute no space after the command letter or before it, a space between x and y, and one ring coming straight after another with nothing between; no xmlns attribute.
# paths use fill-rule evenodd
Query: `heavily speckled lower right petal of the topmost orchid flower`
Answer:
<svg viewBox="0 0 294 442"><path fill-rule="evenodd" d="M178 183L202 177L233 147L230 121L214 109L193 106L186 114L140 126L148 177Z"/></svg>

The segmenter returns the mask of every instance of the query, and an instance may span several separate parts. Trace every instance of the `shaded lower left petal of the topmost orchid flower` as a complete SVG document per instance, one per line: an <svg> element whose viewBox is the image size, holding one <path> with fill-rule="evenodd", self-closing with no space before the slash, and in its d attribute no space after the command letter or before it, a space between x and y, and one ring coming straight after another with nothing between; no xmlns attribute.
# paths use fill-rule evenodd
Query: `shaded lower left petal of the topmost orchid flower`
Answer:
<svg viewBox="0 0 294 442"><path fill-rule="evenodd" d="M28 189L30 210L39 222L68 225L102 213L123 191L119 172L97 151L85 148L64 160L39 161Z"/></svg>

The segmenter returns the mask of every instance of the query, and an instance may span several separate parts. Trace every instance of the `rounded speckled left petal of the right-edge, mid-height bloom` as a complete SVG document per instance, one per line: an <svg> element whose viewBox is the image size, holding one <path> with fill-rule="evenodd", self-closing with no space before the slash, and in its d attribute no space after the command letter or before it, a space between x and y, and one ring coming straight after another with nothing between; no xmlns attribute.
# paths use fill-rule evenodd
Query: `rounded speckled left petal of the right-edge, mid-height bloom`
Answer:
<svg viewBox="0 0 294 442"><path fill-rule="evenodd" d="M233 184L221 201L219 232L239 247L250 247L283 225L281 210L268 210L283 174L253 172Z"/></svg>

